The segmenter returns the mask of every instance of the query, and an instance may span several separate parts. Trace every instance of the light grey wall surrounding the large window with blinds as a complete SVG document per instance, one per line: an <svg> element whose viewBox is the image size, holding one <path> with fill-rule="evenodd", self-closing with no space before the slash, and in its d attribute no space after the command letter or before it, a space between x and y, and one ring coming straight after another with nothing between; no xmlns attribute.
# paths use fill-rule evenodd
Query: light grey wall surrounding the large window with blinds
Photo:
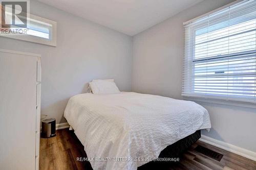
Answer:
<svg viewBox="0 0 256 170"><path fill-rule="evenodd" d="M183 22L233 0L206 0L133 37L132 91L183 99ZM199 103L210 114L204 135L256 152L256 109Z"/></svg>

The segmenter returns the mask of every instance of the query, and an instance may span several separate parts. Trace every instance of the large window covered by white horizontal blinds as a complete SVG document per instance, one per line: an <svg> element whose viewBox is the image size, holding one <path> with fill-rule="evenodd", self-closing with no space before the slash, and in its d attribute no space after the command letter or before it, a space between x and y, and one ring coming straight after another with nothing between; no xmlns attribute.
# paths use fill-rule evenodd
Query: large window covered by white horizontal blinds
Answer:
<svg viewBox="0 0 256 170"><path fill-rule="evenodd" d="M256 102L256 0L184 23L182 95Z"/></svg>

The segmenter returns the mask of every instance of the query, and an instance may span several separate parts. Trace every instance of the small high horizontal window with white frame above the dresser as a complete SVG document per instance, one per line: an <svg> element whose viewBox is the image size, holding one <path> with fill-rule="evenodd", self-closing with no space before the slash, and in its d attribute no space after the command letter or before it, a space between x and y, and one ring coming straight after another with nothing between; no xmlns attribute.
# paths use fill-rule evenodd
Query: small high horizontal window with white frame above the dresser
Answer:
<svg viewBox="0 0 256 170"><path fill-rule="evenodd" d="M27 19L28 19L27 28L19 27L19 29L24 30L21 35L20 34L19 35L0 34L0 35L8 38L14 38L14 39L40 43L40 44L56 46L57 23L55 21L42 18L39 16L35 16L32 14L30 14L29 18ZM15 29L17 28L11 28L10 30L15 31Z"/></svg>

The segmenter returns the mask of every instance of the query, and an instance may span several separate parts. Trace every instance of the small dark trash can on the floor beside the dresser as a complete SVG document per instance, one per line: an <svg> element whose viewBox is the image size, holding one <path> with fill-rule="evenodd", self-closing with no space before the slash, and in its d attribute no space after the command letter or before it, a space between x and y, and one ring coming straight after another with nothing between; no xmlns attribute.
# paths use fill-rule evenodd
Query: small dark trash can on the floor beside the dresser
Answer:
<svg viewBox="0 0 256 170"><path fill-rule="evenodd" d="M42 120L42 138L49 138L56 136L56 119L55 118L48 118Z"/></svg>

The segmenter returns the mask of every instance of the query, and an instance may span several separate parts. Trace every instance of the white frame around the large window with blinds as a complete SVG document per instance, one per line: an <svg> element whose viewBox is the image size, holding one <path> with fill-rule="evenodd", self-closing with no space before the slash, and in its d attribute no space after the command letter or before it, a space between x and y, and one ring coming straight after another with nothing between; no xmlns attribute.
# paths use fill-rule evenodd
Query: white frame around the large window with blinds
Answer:
<svg viewBox="0 0 256 170"><path fill-rule="evenodd" d="M218 8L214 11L211 11L211 12L208 12L204 15L201 15L199 17L196 17L194 19L191 19L189 21L186 21L186 22L183 22L183 25L189 25L191 22L194 22L196 20L200 20L200 19L203 19L204 17L212 14L212 13L215 13L215 12L218 12L218 11L221 11L229 6L232 6L232 5L235 5L235 4L238 4L238 3L241 3L243 2L243 0L239 0L239 1L235 1L235 2L232 2L230 4L227 4L221 8ZM186 83L188 84L187 86L189 87L189 91L190 92L184 92L183 88L182 88L182 96L183 96L183 99L185 100L194 100L194 101L197 101L197 102L210 102L210 103L216 103L216 104L226 104L226 105L232 105L232 106L242 106L242 107L249 107L249 108L256 108L255 106L255 103L256 103L256 100L253 98L252 100L250 99L246 99L246 98L225 98L223 97L222 95L219 95L219 94L211 94L211 93L203 93L203 94L200 94L200 93L195 93L194 92L194 89L195 89L195 70L191 69L193 68L193 63L196 61L196 60L201 60L200 58L199 59L195 59L195 37L196 37L196 29L189 29L188 30L189 32L189 35L190 37L188 37L188 39L191 41L193 40L193 45L191 46L194 46L193 48L188 48L186 47L186 39L185 39L185 56L186 56L186 53L189 53L189 57L188 58L184 58L184 71L187 71L189 70L188 73L186 72L183 72L183 86L185 86L185 77L189 78L190 80L188 80ZM192 53L189 52L189 51L193 51ZM256 53L256 49L253 50L254 53ZM244 52L240 52L241 55L243 53L247 53L248 51L244 51ZM230 56L232 54L228 54L228 55L223 55L223 56ZM216 58L217 56L214 56L214 57L209 57L209 58ZM203 58L203 59L207 59L207 58ZM186 63L187 62L187 63ZM185 67L189 67L188 69L185 69ZM185 75L187 74L187 75Z"/></svg>

